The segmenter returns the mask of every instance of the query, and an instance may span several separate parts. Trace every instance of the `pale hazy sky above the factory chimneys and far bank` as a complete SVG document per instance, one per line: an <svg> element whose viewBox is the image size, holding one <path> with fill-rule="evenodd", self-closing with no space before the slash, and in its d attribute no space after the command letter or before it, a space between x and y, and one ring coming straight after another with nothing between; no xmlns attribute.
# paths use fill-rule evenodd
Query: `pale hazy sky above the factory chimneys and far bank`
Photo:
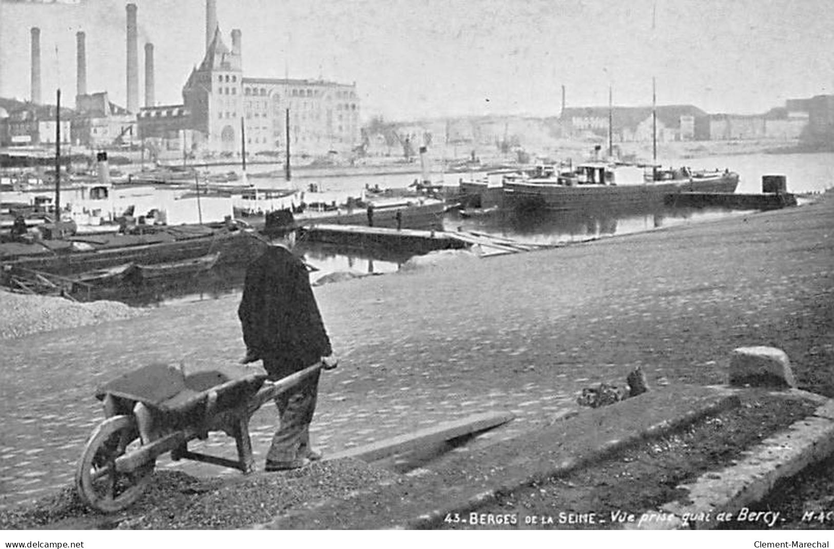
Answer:
<svg viewBox="0 0 834 549"><path fill-rule="evenodd" d="M29 29L41 28L43 98L126 103L123 0L3 1L0 95L29 98ZM204 0L135 0L139 96L153 42L158 103L182 103L205 48ZM224 40L243 32L244 75L356 82L363 118L560 113L567 106L691 103L763 113L834 93L830 0L217 0ZM70 100L71 101L71 100Z"/></svg>

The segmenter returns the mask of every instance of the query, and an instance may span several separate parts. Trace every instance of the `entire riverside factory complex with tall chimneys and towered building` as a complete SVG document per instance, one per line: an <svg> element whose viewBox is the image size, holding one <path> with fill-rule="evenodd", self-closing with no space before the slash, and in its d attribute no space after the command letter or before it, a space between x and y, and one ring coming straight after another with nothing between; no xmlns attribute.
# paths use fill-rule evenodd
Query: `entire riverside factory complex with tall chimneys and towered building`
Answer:
<svg viewBox="0 0 834 549"><path fill-rule="evenodd" d="M143 144L154 152L174 151L193 158L239 157L244 147L248 154L277 155L287 145L288 109L293 154L348 152L361 141L355 83L245 75L242 33L232 31L229 48L217 24L216 0L206 1L206 51L183 86L183 103L157 104L153 43L139 48L137 5L128 3L125 11L126 106L112 103L107 92L88 93L87 36L78 31L76 108L62 120L62 141L95 149ZM145 71L143 107L139 105L140 50ZM54 121L48 119L48 108L40 108L39 28L31 29L31 56L31 98L24 106L4 109L2 144L54 141L49 129L50 124L54 129Z"/></svg>

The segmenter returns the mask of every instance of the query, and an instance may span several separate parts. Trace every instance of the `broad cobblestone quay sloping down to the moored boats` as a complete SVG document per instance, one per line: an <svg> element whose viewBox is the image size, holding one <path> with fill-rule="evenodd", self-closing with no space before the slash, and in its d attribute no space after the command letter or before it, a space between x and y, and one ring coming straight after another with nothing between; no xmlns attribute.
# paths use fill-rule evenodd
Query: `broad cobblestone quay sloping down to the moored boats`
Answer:
<svg viewBox="0 0 834 549"><path fill-rule="evenodd" d="M511 436L635 365L651 385L723 383L731 350L744 345L785 350L802 388L834 395L832 242L828 194L799 208L322 286L342 362L323 375L314 442L334 452L486 410L515 412L491 435ZM72 481L103 419L99 383L157 360L188 370L236 362L238 303L0 341L0 506ZM271 405L253 418L259 465L274 421ZM203 444L234 455L229 437ZM239 475L168 456L158 465Z"/></svg>

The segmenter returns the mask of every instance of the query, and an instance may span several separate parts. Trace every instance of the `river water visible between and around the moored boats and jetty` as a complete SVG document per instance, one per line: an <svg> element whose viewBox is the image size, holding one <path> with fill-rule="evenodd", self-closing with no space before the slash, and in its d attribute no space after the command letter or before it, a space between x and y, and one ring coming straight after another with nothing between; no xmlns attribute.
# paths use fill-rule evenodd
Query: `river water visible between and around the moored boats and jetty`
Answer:
<svg viewBox="0 0 834 549"><path fill-rule="evenodd" d="M834 186L834 153L816 154L740 154L713 156L701 159L677 160L666 165L688 165L692 169L731 169L740 175L737 193L761 192L761 176L783 174L787 177L788 190L792 193L816 193ZM275 165L250 167L249 173L280 169ZM223 171L215 169L214 171ZM227 169L228 171L228 169ZM339 177L307 176L304 170L294 173L296 184L317 183L323 189L358 190L366 185L379 188L404 188L419 177L419 164L413 173L351 175ZM432 174L435 182L442 180L447 185L458 180L478 177L481 174ZM261 178L259 185L286 186L281 178ZM496 211L480 216L462 217L450 212L443 219L443 229L470 230L495 234L523 242L564 243L599 238L612 234L628 234L678 224L698 223L730 215L749 212L722 209L671 209L659 208L639 214L565 214L559 212L538 212L515 214L510 211ZM338 271L354 274L390 273L409 259L408 255L391 254L379 250L344 249L301 243L299 253L318 271L311 274L311 280L321 275ZM244 268L239 266L213 269L197 274L187 280L164 280L153 285L124 288L108 299L123 300L131 305L173 305L193 300L214 299L220 295L239 292L243 285Z"/></svg>

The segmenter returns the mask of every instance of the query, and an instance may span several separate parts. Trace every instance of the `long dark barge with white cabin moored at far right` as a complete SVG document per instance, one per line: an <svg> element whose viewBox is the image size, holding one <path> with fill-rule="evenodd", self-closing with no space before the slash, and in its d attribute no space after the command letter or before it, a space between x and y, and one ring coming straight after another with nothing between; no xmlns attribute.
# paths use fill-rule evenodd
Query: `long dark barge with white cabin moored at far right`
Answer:
<svg viewBox="0 0 834 549"><path fill-rule="evenodd" d="M668 194L680 192L733 193L738 174L724 172L661 172L636 164L591 162L568 174L505 178L504 194L515 208L558 210L636 209L663 204Z"/></svg>

